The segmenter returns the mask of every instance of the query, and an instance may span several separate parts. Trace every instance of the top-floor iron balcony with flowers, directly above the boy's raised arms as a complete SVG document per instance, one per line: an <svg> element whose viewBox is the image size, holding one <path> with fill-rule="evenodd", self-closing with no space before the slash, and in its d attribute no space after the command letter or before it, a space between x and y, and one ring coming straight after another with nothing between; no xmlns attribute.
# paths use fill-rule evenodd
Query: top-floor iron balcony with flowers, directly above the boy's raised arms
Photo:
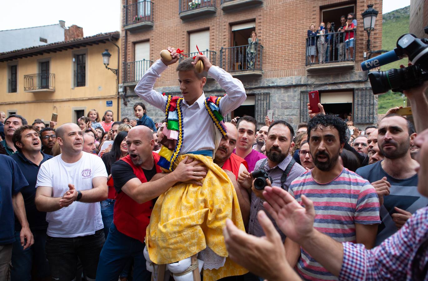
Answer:
<svg viewBox="0 0 428 281"><path fill-rule="evenodd" d="M214 15L215 0L179 0L178 14L183 21Z"/></svg>

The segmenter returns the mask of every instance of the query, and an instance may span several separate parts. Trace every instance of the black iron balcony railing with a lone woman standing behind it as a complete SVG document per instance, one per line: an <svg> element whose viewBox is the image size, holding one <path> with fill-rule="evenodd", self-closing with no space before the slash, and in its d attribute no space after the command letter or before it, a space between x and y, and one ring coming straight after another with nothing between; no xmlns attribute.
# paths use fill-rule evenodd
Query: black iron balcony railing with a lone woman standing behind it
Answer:
<svg viewBox="0 0 428 281"><path fill-rule="evenodd" d="M221 48L220 67L227 72L263 71L263 46L260 44Z"/></svg>

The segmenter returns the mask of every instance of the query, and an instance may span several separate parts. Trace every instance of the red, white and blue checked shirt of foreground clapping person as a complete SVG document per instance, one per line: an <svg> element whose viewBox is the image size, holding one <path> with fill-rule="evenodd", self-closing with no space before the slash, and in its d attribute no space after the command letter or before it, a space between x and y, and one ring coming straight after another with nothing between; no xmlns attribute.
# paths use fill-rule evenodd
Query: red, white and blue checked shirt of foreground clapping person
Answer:
<svg viewBox="0 0 428 281"><path fill-rule="evenodd" d="M339 280L428 280L428 207L376 248L343 243Z"/></svg>

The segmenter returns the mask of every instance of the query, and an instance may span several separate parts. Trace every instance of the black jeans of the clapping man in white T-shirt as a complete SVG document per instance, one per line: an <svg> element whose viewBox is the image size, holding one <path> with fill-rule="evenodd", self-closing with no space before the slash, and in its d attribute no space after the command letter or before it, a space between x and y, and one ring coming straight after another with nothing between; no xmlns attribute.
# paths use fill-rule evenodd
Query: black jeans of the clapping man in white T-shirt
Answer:
<svg viewBox="0 0 428 281"><path fill-rule="evenodd" d="M76 277L77 257L88 280L95 280L98 259L104 245L102 229L95 234L79 237L46 236L46 257L53 280L70 281Z"/></svg>

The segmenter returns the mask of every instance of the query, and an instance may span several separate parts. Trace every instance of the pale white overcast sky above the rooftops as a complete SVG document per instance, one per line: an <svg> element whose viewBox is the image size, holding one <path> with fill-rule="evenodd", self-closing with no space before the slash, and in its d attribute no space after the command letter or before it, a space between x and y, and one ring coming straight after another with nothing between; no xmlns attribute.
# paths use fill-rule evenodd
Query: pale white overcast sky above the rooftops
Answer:
<svg viewBox="0 0 428 281"><path fill-rule="evenodd" d="M171 0L177 3L177 0ZM83 35L120 30L120 0L11 0L2 1L0 30L65 21L65 26L83 27ZM410 5L410 0L383 0L383 13ZM374 7L376 9L376 7ZM0 42L1 44L1 42Z"/></svg>

